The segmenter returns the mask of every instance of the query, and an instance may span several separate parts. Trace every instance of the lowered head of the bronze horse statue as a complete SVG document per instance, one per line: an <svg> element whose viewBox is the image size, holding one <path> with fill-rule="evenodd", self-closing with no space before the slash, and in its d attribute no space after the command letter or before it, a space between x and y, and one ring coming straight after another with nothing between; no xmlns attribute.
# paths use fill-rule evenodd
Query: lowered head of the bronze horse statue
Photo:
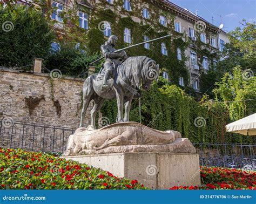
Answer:
<svg viewBox="0 0 256 204"><path fill-rule="evenodd" d="M142 70L142 87L144 90L149 90L152 81L158 80L159 78L159 64L156 65L156 62L153 60Z"/></svg>

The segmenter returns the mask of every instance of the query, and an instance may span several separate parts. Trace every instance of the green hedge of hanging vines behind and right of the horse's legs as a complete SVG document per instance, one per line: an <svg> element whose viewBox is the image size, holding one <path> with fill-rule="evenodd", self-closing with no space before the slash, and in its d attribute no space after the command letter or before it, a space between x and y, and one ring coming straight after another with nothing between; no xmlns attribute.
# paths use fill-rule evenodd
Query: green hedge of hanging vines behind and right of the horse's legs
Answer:
<svg viewBox="0 0 256 204"><path fill-rule="evenodd" d="M158 83L163 84L163 78ZM142 124L162 131L179 131L192 142L252 142L252 137L226 132L230 115L225 104L212 104L207 97L198 103L176 85L159 87L154 83L144 92L141 110ZM115 123L116 100L105 101L102 113ZM139 99L133 99L130 120L139 122Z"/></svg>

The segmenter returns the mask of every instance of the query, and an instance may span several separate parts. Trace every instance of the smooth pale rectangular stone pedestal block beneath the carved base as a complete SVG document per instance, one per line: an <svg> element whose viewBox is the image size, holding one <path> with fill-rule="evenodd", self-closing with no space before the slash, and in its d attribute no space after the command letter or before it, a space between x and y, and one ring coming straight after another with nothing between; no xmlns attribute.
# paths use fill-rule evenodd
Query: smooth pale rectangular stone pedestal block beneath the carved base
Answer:
<svg viewBox="0 0 256 204"><path fill-rule="evenodd" d="M111 153L63 157L102 168L118 177L136 179L153 189L200 185L196 153Z"/></svg>

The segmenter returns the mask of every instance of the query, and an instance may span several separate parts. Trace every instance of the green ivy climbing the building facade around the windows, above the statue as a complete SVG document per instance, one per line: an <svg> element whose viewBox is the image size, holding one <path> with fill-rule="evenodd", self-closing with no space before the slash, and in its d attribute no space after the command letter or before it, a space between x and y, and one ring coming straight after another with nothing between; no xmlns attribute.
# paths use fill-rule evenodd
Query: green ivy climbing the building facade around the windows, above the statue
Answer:
<svg viewBox="0 0 256 204"><path fill-rule="evenodd" d="M160 64L161 71L165 71L169 74L171 83L178 85L178 77L181 76L184 78L184 84L188 85L190 78L189 72L185 66L186 58L184 51L190 44L190 40L184 34L174 31L174 15L170 12L160 10L151 2L149 2L150 19L144 19L142 17L142 9L138 9L137 7L137 5L142 4L142 1L132 1L132 11L126 11L123 8L123 1L115 1L111 4L114 11L118 10L118 8L122 8L122 10L120 12L113 12L111 9L107 9L110 6L108 2L100 1L90 14L90 29L87 33L87 47L91 53L100 51L100 45L104 44L107 40L103 31L98 28L104 21L111 23L111 33L118 37L117 49L130 45L124 42L125 28L131 30L132 44L143 42L144 36L154 39L172 34L173 38L175 38L173 41L170 37L164 38L150 43L149 50L145 49L144 45L140 45L126 50L126 52L128 56L147 56L156 60L156 62ZM123 13L127 17L122 17L120 13ZM166 26L159 23L159 14L166 17ZM134 16L140 18L140 23L133 20ZM161 53L161 43L165 43L166 45L167 56ZM183 53L183 60L177 59L178 47Z"/></svg>

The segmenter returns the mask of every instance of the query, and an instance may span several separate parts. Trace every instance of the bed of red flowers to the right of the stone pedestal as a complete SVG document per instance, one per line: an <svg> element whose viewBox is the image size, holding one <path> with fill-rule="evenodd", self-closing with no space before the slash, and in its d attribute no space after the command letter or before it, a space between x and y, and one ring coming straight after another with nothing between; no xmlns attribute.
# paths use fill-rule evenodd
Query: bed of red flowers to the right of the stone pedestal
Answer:
<svg viewBox="0 0 256 204"><path fill-rule="evenodd" d="M201 186L174 186L177 189L256 189L256 172L200 166Z"/></svg>

